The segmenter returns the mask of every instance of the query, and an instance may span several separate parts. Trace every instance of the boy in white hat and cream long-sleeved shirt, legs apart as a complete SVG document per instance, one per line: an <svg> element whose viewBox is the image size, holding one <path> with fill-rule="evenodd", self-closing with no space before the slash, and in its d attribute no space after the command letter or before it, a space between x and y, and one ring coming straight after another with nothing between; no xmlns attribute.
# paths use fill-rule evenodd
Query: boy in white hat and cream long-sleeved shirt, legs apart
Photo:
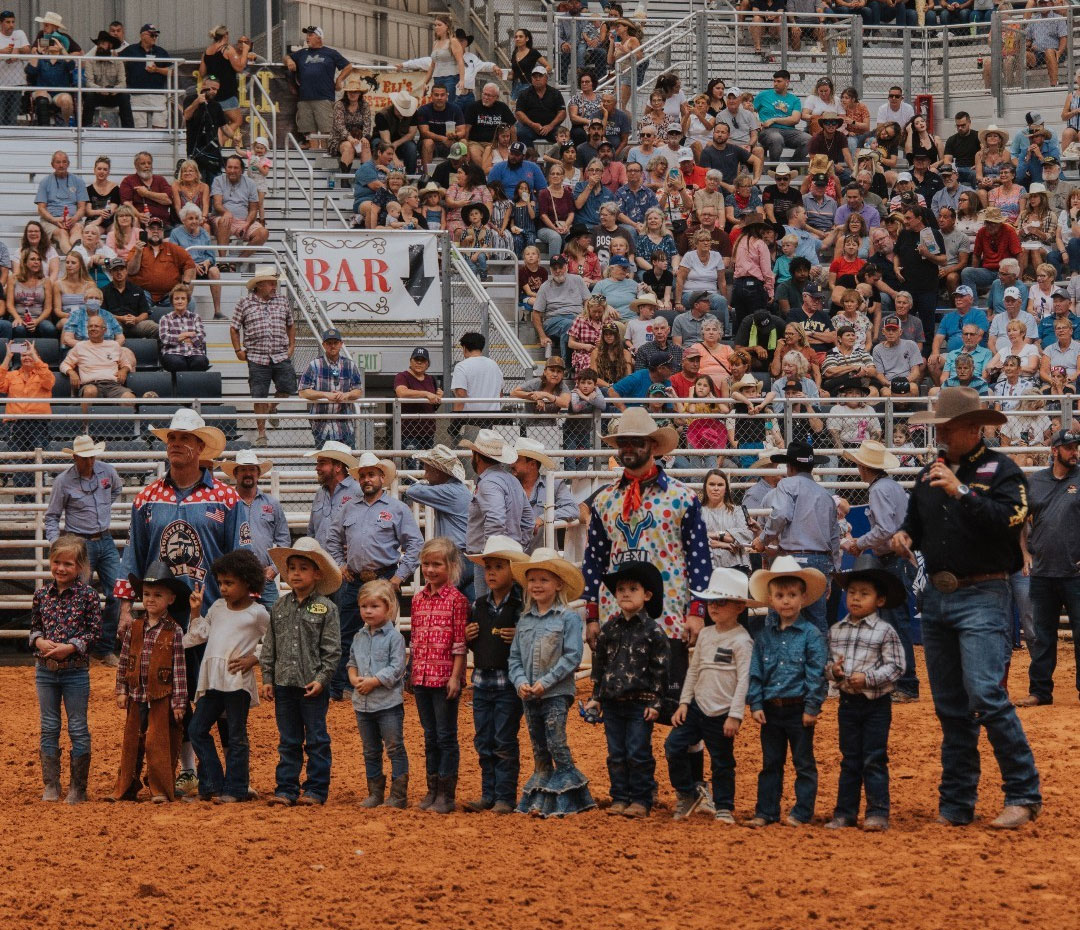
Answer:
<svg viewBox="0 0 1080 930"><path fill-rule="evenodd" d="M690 668L683 684L678 710L672 715L674 729L664 743L667 774L677 800L673 820L690 817L704 799L694 790L690 771L690 746L701 742L713 764L713 805L716 820L734 823L735 733L746 709L750 660L754 641L739 624L739 615L751 601L746 576L735 568L716 568L706 591L692 591L708 606L712 626L698 634Z"/></svg>

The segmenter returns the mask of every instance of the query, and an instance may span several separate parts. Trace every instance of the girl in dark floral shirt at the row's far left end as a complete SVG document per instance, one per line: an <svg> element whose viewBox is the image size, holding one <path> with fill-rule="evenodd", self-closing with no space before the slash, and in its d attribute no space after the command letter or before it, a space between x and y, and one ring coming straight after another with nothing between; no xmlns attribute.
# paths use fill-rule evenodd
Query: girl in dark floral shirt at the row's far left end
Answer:
<svg viewBox="0 0 1080 930"><path fill-rule="evenodd" d="M30 648L41 711L42 800L60 799L60 702L68 718L71 768L68 804L86 799L90 772L90 648L102 635L97 592L82 580L89 571L86 543L78 536L59 537L49 549L53 580L33 594Z"/></svg>

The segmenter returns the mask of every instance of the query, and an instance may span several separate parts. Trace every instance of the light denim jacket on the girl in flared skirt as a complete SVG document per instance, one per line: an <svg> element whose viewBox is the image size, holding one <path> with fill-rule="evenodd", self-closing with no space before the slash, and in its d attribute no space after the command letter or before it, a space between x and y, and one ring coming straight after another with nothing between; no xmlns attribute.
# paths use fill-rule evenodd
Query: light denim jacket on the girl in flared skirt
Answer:
<svg viewBox="0 0 1080 930"><path fill-rule="evenodd" d="M554 604L543 615L531 606L517 621L510 645L510 682L543 685L544 698L575 693L573 673L584 652L584 624L577 610Z"/></svg>

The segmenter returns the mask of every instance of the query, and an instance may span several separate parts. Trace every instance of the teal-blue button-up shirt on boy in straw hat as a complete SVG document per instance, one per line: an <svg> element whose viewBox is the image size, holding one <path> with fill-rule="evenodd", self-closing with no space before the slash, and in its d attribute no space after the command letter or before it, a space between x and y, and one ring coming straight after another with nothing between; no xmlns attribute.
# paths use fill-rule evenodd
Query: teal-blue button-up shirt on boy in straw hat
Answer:
<svg viewBox="0 0 1080 930"><path fill-rule="evenodd" d="M802 698L805 712L816 715L828 693L825 662L828 650L825 637L800 614L791 626L780 628L775 616L754 641L750 660L750 688L746 702L752 711L769 711L766 701L777 698Z"/></svg>

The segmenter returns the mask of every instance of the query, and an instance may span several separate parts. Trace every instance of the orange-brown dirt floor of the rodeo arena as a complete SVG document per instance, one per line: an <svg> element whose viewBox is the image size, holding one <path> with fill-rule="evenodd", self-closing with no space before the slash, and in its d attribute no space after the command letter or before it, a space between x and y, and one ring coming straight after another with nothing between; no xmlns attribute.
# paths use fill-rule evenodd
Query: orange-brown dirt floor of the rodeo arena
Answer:
<svg viewBox="0 0 1080 930"><path fill-rule="evenodd" d="M833 702L816 733L815 825L802 830L755 832L704 818L673 823L660 728L663 807L647 822L602 811L540 822L361 810L363 764L349 704L330 709L334 774L324 808L46 806L39 800L32 670L0 669L0 928L1080 927L1080 709L1071 655L1071 644L1063 644L1058 703L1023 712L1045 809L1016 834L985 826L1001 804L985 740L978 820L964 830L933 822L940 731L929 696L895 709L892 830L883 835L821 827L832 813L839 765ZM1017 652L1014 697L1026 692L1026 655ZM99 798L110 791L120 741L108 670L92 670L91 702L90 790ZM459 796L468 798L478 786L468 703L460 736ZM253 710L251 738L252 782L267 792L276 740L269 705ZM423 777L416 776L423 750L411 705L406 738L415 804L423 794ZM575 713L570 742L603 806L602 731ZM524 781L531 761L524 729L522 751ZM742 820L753 812L760 759L753 722L738 738L737 757ZM791 779L785 809L789 804Z"/></svg>

